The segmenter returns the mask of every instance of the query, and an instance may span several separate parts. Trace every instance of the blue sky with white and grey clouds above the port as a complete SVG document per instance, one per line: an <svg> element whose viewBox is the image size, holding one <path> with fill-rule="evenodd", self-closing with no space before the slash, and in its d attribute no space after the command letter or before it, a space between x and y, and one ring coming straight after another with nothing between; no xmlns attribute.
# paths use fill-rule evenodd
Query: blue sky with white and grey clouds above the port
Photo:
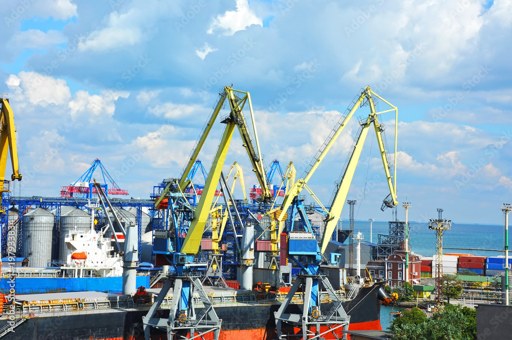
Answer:
<svg viewBox="0 0 512 340"><path fill-rule="evenodd" d="M398 107L399 218L408 201L413 221L443 208L454 222L503 222L512 191L510 0L3 0L0 14L0 93L13 108L23 174L16 195L59 196L99 158L131 197L149 198L163 178L180 176L231 84L250 93L266 165L292 161L300 177L370 85ZM356 111L308 182L326 206L356 117L368 113ZM380 120L393 158L394 114ZM206 169L222 131L216 122L201 150ZM237 135L226 172L233 161L247 187L257 183ZM357 219L388 220L388 194L369 134L347 198L357 200Z"/></svg>

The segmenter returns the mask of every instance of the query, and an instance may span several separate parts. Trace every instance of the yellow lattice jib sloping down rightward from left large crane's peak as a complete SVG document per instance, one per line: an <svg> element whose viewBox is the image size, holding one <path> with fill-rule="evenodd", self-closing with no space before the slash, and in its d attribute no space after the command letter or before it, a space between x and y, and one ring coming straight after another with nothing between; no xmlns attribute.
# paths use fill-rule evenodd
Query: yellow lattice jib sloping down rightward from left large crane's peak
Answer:
<svg viewBox="0 0 512 340"><path fill-rule="evenodd" d="M243 95L241 98L236 96L235 93ZM263 198L270 199L272 198L272 194L268 189L267 184L267 175L265 174L265 167L263 164L263 157L261 155L260 143L258 140L258 132L256 129L256 123L254 121L254 113L252 111L252 103L251 97L248 92L243 92L240 90L232 89L227 87L227 97L229 98L229 105L231 107L231 112L236 117L237 127L240 132L240 136L242 137L243 146L247 150L247 155L249 156L249 161L252 165L252 171L256 174L256 178L258 179L258 183L260 184L263 191ZM247 127L247 123L245 122L245 117L243 115L243 108L248 104L249 112L251 116L252 129L254 131L254 142L252 143L251 135L249 133L249 129ZM255 144L255 145L254 145Z"/></svg>

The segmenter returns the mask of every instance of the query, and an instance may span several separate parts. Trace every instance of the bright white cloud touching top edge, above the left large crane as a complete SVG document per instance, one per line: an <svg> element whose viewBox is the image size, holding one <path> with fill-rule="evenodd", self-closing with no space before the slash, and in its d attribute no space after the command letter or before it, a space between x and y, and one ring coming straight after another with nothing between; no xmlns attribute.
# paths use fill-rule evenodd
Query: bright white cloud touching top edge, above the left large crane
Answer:
<svg viewBox="0 0 512 340"><path fill-rule="evenodd" d="M263 27L263 20L249 8L248 0L237 0L237 10L226 11L226 13L217 16L211 23L208 33L223 30L225 35L233 35L251 25Z"/></svg>

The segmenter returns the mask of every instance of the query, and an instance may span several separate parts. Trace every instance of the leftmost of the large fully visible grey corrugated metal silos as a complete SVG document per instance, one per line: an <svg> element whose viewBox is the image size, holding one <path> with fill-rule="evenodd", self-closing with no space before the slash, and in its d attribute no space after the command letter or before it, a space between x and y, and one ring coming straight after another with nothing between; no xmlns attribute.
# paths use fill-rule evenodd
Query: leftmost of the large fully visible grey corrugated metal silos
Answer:
<svg viewBox="0 0 512 340"><path fill-rule="evenodd" d="M52 259L52 236L55 216L42 208L23 216L22 256L31 267L46 267Z"/></svg>

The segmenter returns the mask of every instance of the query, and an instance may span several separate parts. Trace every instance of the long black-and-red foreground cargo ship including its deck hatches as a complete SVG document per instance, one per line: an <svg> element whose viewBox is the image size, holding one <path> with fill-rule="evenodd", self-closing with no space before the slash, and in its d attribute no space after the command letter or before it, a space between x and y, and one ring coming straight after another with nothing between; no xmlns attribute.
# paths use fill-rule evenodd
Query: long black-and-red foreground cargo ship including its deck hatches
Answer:
<svg viewBox="0 0 512 340"><path fill-rule="evenodd" d="M345 299L343 307L350 315L349 330L381 330L380 305L386 303L384 283L360 287L353 299ZM15 297L15 311L4 305L0 319L0 338L6 340L142 340L142 317L151 306L159 289L149 289L147 299L134 299L122 294L101 292L47 293ZM271 340L276 338L274 311L284 296L258 299L252 291L205 287L215 302L222 319L220 339ZM136 295L137 297L137 295ZM322 296L330 304L327 294ZM289 306L290 312L301 312L301 299ZM389 300L388 300L389 301ZM172 302L169 296L161 305L162 317L168 316ZM195 301L200 306L199 299ZM301 312L302 313L302 312ZM9 319L10 317L10 319ZM293 334L294 330L287 330ZM342 338L340 332L337 337ZM208 334L206 334L205 338ZM330 335L330 336L329 336ZM335 338L328 333L325 338ZM167 334L152 329L151 339L167 339Z"/></svg>

